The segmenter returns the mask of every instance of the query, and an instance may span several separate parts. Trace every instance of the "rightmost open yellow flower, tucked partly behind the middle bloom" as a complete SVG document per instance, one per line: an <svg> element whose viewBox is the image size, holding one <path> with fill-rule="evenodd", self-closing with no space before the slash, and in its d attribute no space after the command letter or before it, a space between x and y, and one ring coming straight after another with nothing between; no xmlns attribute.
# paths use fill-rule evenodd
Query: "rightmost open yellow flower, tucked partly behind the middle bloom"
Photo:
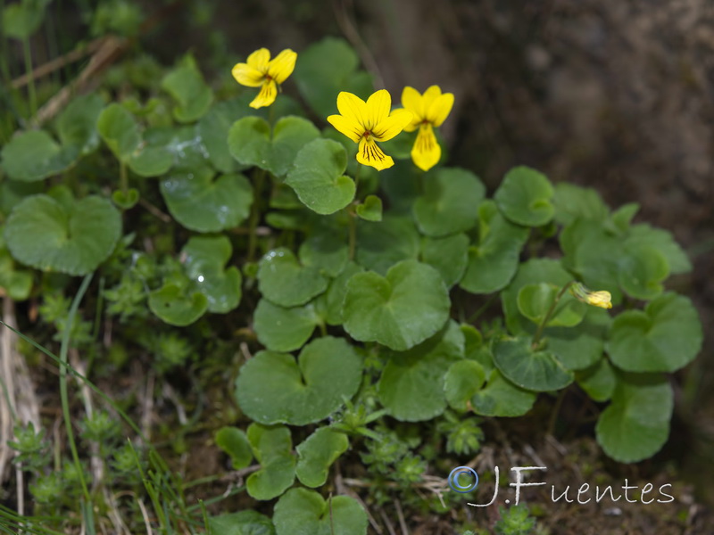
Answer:
<svg viewBox="0 0 714 535"><path fill-rule="evenodd" d="M413 132L419 128L417 140L411 148L411 160L419 169L428 171L441 158L441 147L436 141L434 128L440 127L452 111L453 94L442 94L439 86L431 86L424 95L419 95L419 91L406 86L402 92L402 105L413 114L411 123L404 130Z"/></svg>

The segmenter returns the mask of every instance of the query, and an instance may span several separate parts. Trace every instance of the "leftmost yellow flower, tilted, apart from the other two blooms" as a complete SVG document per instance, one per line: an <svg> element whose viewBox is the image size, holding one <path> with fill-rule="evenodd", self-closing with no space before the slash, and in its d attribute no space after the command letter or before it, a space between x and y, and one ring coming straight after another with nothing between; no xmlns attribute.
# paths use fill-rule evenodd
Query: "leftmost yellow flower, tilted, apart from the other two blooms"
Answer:
<svg viewBox="0 0 714 535"><path fill-rule="evenodd" d="M267 48L256 50L248 56L247 62L236 63L231 73L241 86L261 87L261 91L250 103L251 108L270 106L278 95L278 85L282 84L295 69L297 53L286 48L270 60Z"/></svg>

